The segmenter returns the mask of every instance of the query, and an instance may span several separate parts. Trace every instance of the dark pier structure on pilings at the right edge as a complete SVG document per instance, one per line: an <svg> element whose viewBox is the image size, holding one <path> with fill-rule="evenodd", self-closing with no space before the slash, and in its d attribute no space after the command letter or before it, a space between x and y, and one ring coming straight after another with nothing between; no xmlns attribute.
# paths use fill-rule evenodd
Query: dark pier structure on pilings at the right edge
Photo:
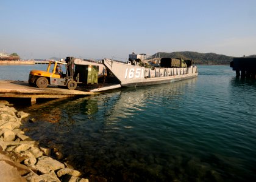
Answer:
<svg viewBox="0 0 256 182"><path fill-rule="evenodd" d="M236 71L236 76L241 78L253 78L256 75L256 58L233 58L230 67Z"/></svg>

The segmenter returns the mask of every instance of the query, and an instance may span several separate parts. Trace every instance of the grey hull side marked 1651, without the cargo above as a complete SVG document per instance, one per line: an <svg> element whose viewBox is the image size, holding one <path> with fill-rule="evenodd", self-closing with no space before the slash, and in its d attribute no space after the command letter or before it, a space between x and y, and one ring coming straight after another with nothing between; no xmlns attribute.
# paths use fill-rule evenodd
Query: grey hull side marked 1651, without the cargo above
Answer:
<svg viewBox="0 0 256 182"><path fill-rule="evenodd" d="M183 79L197 77L197 67L190 66L186 68L159 68L154 69L133 66L122 62L104 60L107 67L116 78L119 79L122 87L148 86L154 84L165 84Z"/></svg>

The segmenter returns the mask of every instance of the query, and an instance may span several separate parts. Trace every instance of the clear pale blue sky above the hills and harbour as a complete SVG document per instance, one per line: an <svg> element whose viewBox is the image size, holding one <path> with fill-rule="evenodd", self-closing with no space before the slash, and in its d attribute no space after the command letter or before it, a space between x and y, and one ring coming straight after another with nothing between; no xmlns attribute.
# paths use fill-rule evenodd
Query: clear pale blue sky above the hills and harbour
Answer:
<svg viewBox="0 0 256 182"><path fill-rule="evenodd" d="M256 55L256 1L0 0L0 52L22 59L178 51Z"/></svg>

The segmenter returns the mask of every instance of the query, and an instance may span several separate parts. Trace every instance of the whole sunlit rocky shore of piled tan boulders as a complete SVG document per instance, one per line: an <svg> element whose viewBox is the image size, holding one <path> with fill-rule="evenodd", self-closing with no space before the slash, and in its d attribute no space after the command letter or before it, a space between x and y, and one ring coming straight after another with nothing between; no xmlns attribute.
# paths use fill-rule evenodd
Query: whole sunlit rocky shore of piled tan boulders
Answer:
<svg viewBox="0 0 256 182"><path fill-rule="evenodd" d="M1 181L89 181L72 166L51 157L51 149L41 147L20 129L28 113L0 101ZM57 156L61 153L56 152Z"/></svg>

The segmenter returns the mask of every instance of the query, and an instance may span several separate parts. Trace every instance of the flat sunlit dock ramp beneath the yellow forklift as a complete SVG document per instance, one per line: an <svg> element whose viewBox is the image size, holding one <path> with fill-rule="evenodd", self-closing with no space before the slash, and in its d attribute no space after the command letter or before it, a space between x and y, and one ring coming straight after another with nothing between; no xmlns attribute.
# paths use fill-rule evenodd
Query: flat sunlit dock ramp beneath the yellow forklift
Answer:
<svg viewBox="0 0 256 182"><path fill-rule="evenodd" d="M44 89L40 89L31 87L24 81L0 80L0 98L30 98L31 104L35 104L38 98L69 98L95 94L97 93L60 89L55 86L48 86Z"/></svg>

